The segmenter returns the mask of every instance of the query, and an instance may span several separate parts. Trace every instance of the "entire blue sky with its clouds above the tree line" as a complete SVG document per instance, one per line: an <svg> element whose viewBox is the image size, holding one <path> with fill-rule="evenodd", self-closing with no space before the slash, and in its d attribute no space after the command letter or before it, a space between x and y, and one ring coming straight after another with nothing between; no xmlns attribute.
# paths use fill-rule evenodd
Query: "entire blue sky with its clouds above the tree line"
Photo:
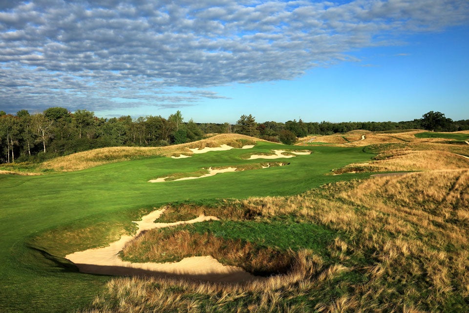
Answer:
<svg viewBox="0 0 469 313"><path fill-rule="evenodd" d="M0 0L0 110L469 119L467 0Z"/></svg>

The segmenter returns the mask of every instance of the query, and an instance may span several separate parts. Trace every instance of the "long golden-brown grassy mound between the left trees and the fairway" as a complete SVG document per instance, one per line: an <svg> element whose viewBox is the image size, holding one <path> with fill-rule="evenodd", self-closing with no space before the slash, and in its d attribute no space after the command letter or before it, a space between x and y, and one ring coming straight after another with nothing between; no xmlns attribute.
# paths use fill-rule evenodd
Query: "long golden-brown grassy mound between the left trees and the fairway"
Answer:
<svg viewBox="0 0 469 313"><path fill-rule="evenodd" d="M255 144L256 141L262 141L262 139L240 134L219 134L208 139L167 147L101 148L79 152L69 156L57 157L44 162L41 168L63 172L79 171L102 164L120 162L138 157L179 156L181 154L190 156L192 155L192 151L189 150L190 148L203 149L204 147L219 147L222 144L241 148L243 145Z"/></svg>

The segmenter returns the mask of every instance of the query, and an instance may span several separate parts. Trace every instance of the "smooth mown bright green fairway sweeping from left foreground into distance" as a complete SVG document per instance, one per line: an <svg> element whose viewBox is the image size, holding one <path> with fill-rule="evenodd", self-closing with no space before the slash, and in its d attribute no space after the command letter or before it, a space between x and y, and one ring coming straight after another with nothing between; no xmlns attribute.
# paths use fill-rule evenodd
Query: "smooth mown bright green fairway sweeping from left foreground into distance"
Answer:
<svg viewBox="0 0 469 313"><path fill-rule="evenodd" d="M310 149L313 153L276 160L239 158L271 149ZM64 255L106 244L102 232L131 229L130 221L154 206L178 200L298 194L329 182L368 177L369 173L324 174L372 156L361 147L305 148L258 142L253 149L209 152L184 159L153 157L71 173L0 176L0 312L74 312L89 304L110 277L79 273ZM263 161L290 164L196 180L148 182L202 167ZM57 228L66 232L87 227L94 230L89 242L64 239L63 245L43 251L47 242L33 240Z"/></svg>

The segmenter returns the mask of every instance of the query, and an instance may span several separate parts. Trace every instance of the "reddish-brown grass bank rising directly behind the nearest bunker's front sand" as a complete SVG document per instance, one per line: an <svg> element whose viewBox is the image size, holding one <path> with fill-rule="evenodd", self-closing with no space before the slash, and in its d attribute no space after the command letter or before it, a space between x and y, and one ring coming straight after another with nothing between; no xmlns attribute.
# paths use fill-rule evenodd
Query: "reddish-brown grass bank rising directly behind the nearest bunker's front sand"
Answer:
<svg viewBox="0 0 469 313"><path fill-rule="evenodd" d="M142 253L141 251L145 251ZM224 265L244 268L255 275L286 273L293 252L260 247L251 242L223 239L188 230L153 229L130 242L123 256L131 262L174 262L186 257L211 255Z"/></svg>

